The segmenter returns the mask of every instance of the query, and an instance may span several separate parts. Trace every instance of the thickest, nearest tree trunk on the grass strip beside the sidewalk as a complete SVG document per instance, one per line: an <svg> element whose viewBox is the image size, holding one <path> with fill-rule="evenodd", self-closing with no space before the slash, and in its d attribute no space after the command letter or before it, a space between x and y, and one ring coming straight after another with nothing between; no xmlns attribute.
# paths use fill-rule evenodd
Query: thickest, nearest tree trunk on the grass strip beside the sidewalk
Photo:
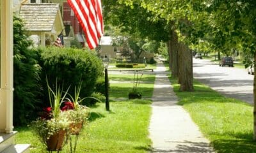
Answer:
<svg viewBox="0 0 256 153"><path fill-rule="evenodd" d="M193 91L192 51L182 42L178 43L178 64L180 91Z"/></svg>

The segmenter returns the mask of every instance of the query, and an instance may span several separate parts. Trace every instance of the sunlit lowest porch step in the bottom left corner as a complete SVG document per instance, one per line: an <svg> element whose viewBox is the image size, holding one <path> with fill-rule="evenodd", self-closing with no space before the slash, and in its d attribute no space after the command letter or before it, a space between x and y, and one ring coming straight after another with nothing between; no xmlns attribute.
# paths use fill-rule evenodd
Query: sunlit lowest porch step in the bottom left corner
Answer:
<svg viewBox="0 0 256 153"><path fill-rule="evenodd" d="M10 145L10 147L6 148L1 153L29 153L29 146L28 144Z"/></svg>

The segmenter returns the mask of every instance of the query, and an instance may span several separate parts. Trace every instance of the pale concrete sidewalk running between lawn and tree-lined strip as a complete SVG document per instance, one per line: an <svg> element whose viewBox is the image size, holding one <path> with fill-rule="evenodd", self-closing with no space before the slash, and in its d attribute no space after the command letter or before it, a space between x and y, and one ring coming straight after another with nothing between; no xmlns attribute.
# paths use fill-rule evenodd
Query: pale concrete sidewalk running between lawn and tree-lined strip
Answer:
<svg viewBox="0 0 256 153"><path fill-rule="evenodd" d="M188 112L177 105L163 64L157 64L150 138L152 152L214 152Z"/></svg>

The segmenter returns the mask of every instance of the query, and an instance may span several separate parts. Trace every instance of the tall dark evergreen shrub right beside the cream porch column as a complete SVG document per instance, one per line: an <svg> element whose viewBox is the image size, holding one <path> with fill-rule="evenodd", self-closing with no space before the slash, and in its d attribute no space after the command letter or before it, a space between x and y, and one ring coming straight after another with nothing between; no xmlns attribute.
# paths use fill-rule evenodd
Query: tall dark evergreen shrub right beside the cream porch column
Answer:
<svg viewBox="0 0 256 153"><path fill-rule="evenodd" d="M38 52L29 49L20 18L13 18L13 121L15 126L26 125L36 118L36 108L40 105L40 66Z"/></svg>

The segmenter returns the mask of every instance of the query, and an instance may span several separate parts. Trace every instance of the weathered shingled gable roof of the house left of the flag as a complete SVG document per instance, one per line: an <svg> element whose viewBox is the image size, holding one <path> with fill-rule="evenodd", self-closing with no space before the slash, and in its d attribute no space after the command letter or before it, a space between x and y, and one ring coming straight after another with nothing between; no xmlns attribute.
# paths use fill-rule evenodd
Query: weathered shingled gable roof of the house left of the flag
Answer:
<svg viewBox="0 0 256 153"><path fill-rule="evenodd" d="M59 4L40 3L20 6L20 17L27 31L52 31Z"/></svg>

